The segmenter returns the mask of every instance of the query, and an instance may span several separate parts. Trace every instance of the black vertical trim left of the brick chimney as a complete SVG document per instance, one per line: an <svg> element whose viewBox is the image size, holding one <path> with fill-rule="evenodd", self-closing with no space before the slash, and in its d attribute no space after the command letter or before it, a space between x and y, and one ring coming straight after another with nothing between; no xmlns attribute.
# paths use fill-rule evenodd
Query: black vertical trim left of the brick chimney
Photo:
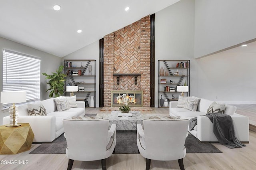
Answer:
<svg viewBox="0 0 256 170"><path fill-rule="evenodd" d="M100 39L99 107L104 107L104 38Z"/></svg>

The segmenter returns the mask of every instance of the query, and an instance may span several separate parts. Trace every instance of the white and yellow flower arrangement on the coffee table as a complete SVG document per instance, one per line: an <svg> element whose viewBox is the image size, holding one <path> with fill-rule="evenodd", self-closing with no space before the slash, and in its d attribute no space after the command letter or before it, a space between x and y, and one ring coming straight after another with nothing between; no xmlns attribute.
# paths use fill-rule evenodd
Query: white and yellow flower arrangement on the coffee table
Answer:
<svg viewBox="0 0 256 170"><path fill-rule="evenodd" d="M118 97L116 97L117 103L119 103L119 105L123 105L121 107L118 107L119 110L121 112L129 112L131 107L129 107L129 104L135 104L135 99L133 95L119 95Z"/></svg>

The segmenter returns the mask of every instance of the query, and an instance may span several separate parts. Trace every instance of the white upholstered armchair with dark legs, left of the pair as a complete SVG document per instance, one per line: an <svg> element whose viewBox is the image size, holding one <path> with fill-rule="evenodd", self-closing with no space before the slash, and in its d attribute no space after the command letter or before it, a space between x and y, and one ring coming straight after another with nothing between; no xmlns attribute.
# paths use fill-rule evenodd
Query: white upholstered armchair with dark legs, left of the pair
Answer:
<svg viewBox="0 0 256 170"><path fill-rule="evenodd" d="M116 146L116 124L108 130L109 120L63 120L68 147L68 170L74 160L101 160L106 170L106 158L112 155Z"/></svg>

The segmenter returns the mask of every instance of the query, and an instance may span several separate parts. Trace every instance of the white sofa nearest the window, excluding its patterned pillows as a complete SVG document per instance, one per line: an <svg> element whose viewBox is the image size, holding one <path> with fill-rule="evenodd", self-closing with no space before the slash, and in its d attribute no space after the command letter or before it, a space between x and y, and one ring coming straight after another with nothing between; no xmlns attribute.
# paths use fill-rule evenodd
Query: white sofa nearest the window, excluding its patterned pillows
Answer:
<svg viewBox="0 0 256 170"><path fill-rule="evenodd" d="M33 142L52 142L64 132L63 119L84 116L85 102L76 101L77 107L57 111L54 98L40 101L46 109L45 116L30 116L28 104L18 107L18 123L29 123L34 132ZM9 124L9 116L3 118L3 125Z"/></svg>

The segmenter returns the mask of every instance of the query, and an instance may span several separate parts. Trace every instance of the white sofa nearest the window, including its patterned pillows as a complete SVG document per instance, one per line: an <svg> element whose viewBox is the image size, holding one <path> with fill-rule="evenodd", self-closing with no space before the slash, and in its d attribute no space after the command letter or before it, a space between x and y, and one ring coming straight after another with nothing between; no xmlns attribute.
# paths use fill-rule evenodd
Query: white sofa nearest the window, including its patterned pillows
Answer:
<svg viewBox="0 0 256 170"><path fill-rule="evenodd" d="M64 119L84 116L85 102L76 101L75 97L57 97L20 105L18 107L18 123L30 124L35 135L33 142L52 142L64 132ZM68 98L69 101L71 99L73 102L69 104L65 98ZM54 99L57 99L58 105ZM31 109L33 106L36 110ZM38 106L40 106L39 109ZM35 112L40 112L41 115L35 114ZM9 124L9 116L3 118L3 125L6 124Z"/></svg>

